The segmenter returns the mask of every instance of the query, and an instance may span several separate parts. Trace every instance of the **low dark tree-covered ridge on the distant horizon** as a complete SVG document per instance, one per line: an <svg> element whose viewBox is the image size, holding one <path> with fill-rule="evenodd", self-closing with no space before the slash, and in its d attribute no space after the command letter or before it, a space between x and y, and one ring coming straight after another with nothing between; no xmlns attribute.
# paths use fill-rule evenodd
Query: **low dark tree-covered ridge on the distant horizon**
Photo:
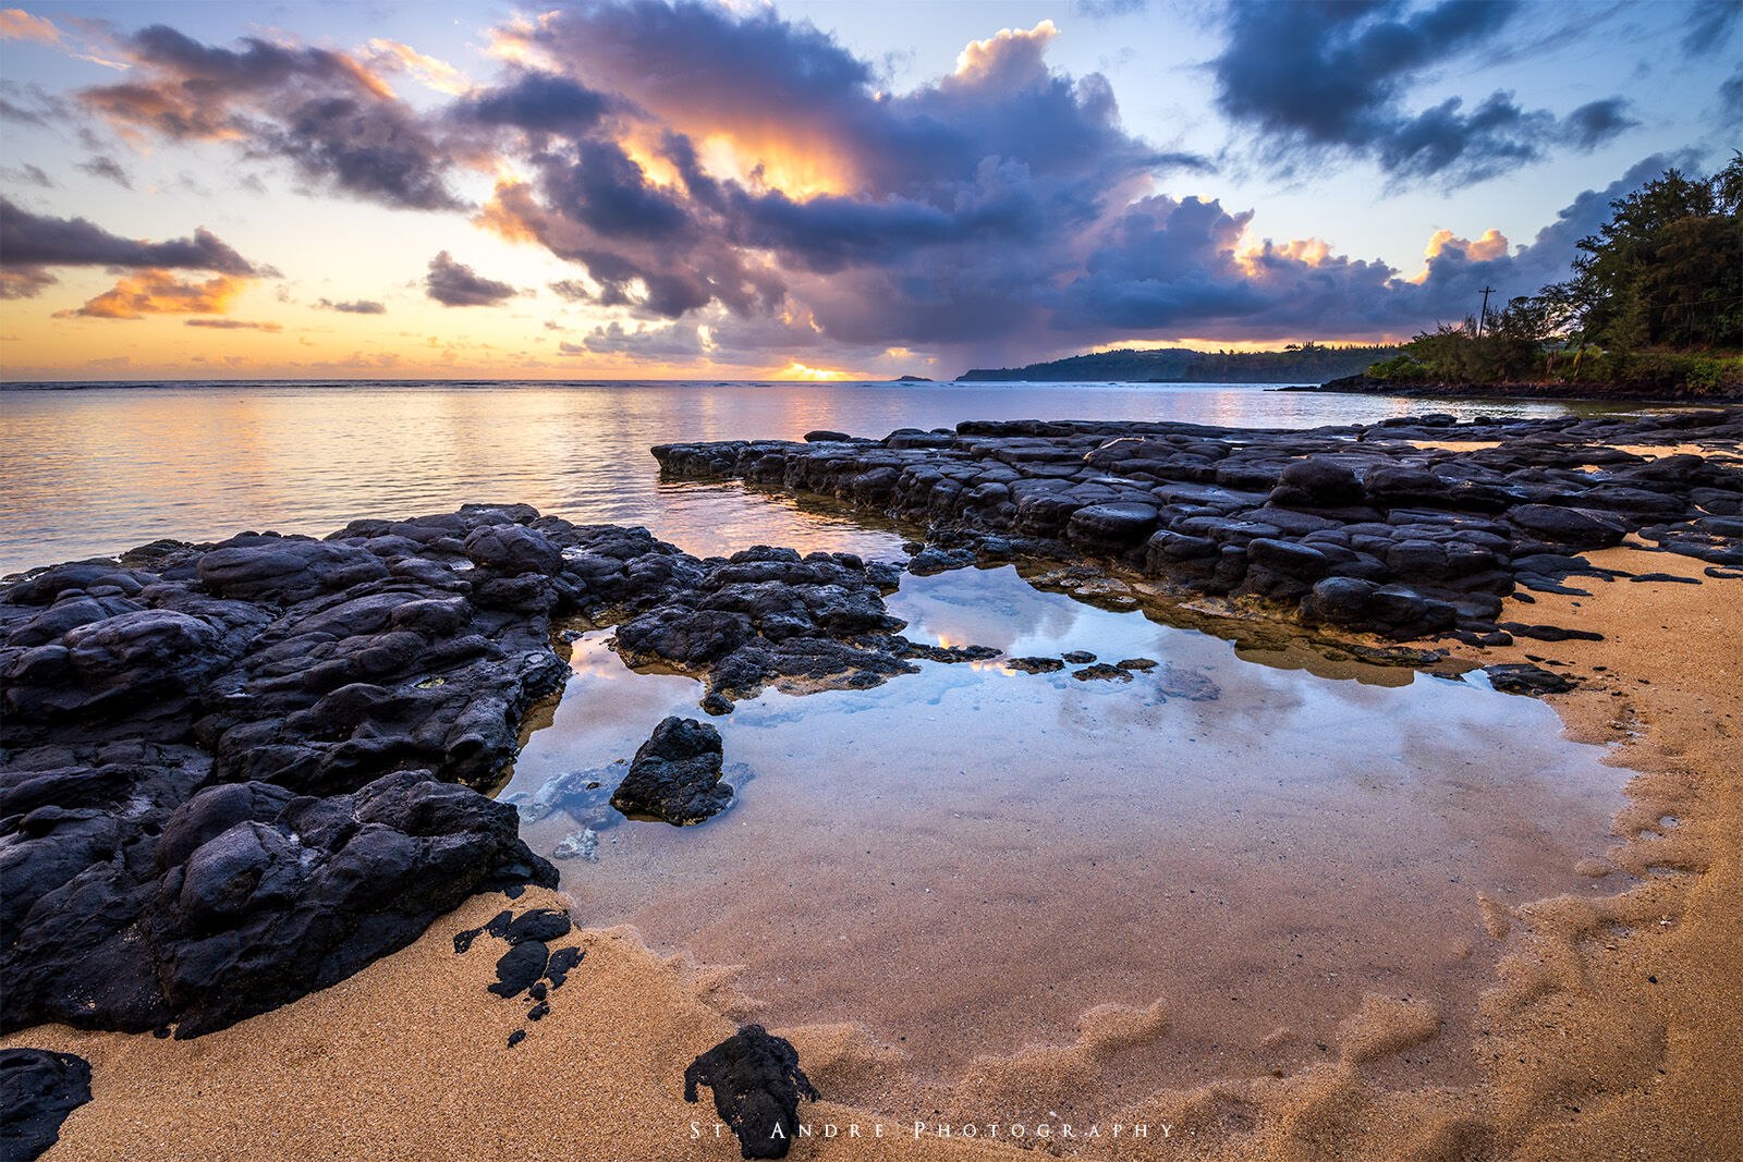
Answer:
<svg viewBox="0 0 1743 1162"><path fill-rule="evenodd" d="M974 368L957 376L964 382L1077 383L1323 383L1367 371L1398 354L1391 343L1373 347L1321 347L1304 343L1267 352L1201 352L1190 347L1156 350L1107 350L1072 355L1027 368Z"/></svg>

